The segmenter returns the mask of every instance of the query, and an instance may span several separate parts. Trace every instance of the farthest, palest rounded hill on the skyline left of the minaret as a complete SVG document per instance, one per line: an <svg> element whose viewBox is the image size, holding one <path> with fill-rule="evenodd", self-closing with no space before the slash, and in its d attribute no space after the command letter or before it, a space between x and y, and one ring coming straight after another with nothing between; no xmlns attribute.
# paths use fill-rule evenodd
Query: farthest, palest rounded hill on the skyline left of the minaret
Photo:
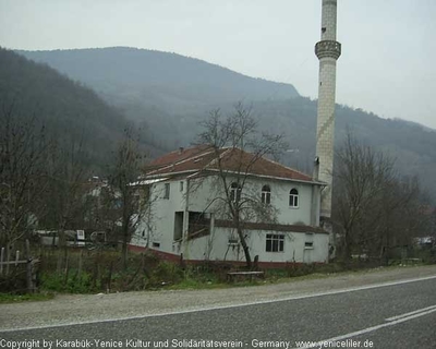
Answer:
<svg viewBox="0 0 436 349"><path fill-rule="evenodd" d="M254 79L175 53L134 48L19 51L114 98L175 111L210 104L295 97L289 84Z"/></svg>

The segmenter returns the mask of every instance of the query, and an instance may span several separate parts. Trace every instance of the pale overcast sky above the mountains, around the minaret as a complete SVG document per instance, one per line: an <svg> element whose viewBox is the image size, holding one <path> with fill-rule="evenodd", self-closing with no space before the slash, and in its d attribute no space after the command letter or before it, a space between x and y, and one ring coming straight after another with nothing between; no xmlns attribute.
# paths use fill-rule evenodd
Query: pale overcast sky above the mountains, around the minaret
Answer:
<svg viewBox="0 0 436 349"><path fill-rule="evenodd" d="M317 97L322 0L0 0L0 46L177 52ZM436 1L338 0L337 103L436 129Z"/></svg>

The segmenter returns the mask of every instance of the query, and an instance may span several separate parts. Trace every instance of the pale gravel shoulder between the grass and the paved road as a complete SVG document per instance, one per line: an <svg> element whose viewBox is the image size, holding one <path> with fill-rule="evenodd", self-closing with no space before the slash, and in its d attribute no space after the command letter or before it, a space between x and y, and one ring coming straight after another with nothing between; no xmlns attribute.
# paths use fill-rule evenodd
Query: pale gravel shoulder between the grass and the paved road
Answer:
<svg viewBox="0 0 436 349"><path fill-rule="evenodd" d="M238 306L256 302L350 291L387 282L436 276L436 265L378 268L289 282L213 290L62 294L45 302L0 304L0 332L74 323Z"/></svg>

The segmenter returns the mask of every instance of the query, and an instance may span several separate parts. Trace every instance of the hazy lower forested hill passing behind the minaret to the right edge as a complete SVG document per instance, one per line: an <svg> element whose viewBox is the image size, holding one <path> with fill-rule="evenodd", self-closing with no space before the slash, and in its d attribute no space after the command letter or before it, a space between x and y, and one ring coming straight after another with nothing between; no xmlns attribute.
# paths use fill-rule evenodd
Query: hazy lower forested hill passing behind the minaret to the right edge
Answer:
<svg viewBox="0 0 436 349"><path fill-rule="evenodd" d="M303 97L264 101L254 104L254 110L263 129L287 134L290 144L287 161L310 171L315 156L317 101ZM344 142L348 133L395 158L400 176L419 177L423 188L436 200L436 130L337 106L336 147Z"/></svg>

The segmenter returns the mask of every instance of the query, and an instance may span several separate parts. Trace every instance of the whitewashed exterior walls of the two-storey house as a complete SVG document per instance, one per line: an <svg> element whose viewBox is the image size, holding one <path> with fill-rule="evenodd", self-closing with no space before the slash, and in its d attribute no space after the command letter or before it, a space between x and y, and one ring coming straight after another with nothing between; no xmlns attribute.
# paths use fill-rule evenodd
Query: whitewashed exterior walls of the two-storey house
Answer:
<svg viewBox="0 0 436 349"><path fill-rule="evenodd" d="M183 182L183 190L181 188ZM231 183L231 179L228 181ZM170 184L170 196L165 198L165 184ZM261 197L263 185L271 190L270 205L277 208L277 222L282 225L311 225L313 205L313 185L280 181L276 179L253 178L245 185L242 195ZM144 215L144 222L132 238L131 243L137 246L148 246L166 253L181 254L185 260L227 260L244 261L244 253L239 243L230 243L229 239L238 242L237 232L231 228L211 227L209 236L190 241L174 241L174 214L183 212L183 236L187 232L189 212L210 213L215 219L226 219L222 201L225 197L219 189L219 182L213 178L202 180L173 180L155 183L150 190L152 205ZM299 192L299 206L289 206L289 193L292 189ZM319 197L315 197L319 205ZM146 224L147 221L147 224ZM180 224L180 219L179 219ZM318 219L316 220L316 225ZM326 262L328 255L328 236L324 233L306 234L301 232L280 232L284 236L283 252L266 252L266 234L271 231L249 231L249 245L252 257L259 256L261 262ZM312 249L304 246L312 239Z"/></svg>

